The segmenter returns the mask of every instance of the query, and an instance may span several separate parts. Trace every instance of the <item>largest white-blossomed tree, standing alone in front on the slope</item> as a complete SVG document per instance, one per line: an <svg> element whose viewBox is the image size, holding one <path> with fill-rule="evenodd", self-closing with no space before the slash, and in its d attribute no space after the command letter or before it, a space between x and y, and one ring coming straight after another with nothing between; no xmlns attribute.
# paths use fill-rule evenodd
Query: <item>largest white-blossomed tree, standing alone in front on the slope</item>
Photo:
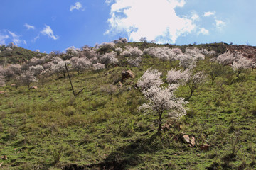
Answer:
<svg viewBox="0 0 256 170"><path fill-rule="evenodd" d="M154 73L155 75L152 75ZM149 103L144 103L142 106L139 106L138 110L151 111L158 115L158 132L161 132L163 114L168 113L168 116L171 118L180 118L182 115L186 115L184 106L187 103L183 98L176 98L176 96L174 96L174 91L178 89L178 84L160 87L163 82L162 79L160 79L160 75L161 72L158 72L157 70L154 70L154 72L145 72L142 78L138 81L138 85L142 88L142 93L149 100ZM152 79L152 77L154 78ZM146 81L147 79L149 81ZM154 82L156 84L154 84ZM148 84L148 86L141 86L141 84Z"/></svg>

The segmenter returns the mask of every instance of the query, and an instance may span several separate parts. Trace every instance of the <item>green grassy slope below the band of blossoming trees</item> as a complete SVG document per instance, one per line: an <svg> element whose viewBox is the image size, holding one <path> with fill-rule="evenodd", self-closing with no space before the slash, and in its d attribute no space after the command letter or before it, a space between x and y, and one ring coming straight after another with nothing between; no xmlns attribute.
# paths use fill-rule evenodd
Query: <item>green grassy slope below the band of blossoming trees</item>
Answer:
<svg viewBox="0 0 256 170"><path fill-rule="evenodd" d="M208 59L197 69L208 68ZM190 99L188 115L174 122L161 136L156 135L154 115L137 113L144 103L138 89L132 88L148 67L159 69L164 77L178 62L161 62L144 56L142 67L133 68L134 79L110 96L102 86L118 82L124 67L113 67L100 74L72 73L76 91L73 98L68 79L49 77L39 81L38 90L25 86L0 96L0 156L8 159L4 169L255 169L256 72L217 77L201 86ZM188 96L182 86L177 96ZM182 128L178 128L182 125ZM231 157L235 132L239 131L238 154ZM209 151L181 142L184 134L196 137L199 144L211 145ZM60 161L58 161L60 155Z"/></svg>

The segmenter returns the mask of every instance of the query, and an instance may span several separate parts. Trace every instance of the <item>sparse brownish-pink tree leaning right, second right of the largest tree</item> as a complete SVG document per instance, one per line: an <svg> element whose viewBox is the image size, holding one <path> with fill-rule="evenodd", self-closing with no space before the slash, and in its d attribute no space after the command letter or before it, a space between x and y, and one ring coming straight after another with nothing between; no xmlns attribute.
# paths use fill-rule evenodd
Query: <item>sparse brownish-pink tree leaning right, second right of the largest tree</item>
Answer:
<svg viewBox="0 0 256 170"><path fill-rule="evenodd" d="M198 87L201 86L205 81L206 81L206 75L202 71L197 72L193 76L189 77L187 81L187 85L191 90L191 95L188 97L188 99L191 98L191 96L193 95L193 92L196 89L198 89Z"/></svg>

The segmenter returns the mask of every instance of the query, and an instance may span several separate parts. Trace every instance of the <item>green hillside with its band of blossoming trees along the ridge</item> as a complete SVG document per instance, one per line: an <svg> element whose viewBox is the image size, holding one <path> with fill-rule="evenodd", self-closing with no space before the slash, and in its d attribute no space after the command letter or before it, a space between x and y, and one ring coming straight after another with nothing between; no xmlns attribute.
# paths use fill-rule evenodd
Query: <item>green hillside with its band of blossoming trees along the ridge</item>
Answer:
<svg viewBox="0 0 256 170"><path fill-rule="evenodd" d="M37 59L31 52L33 60L21 67L2 67L1 168L256 169L255 55L230 49L222 43L105 43ZM75 94L84 88L77 96L63 60ZM159 88L165 89L174 68L190 73L186 82L176 81L174 91L188 102L186 115L171 118L175 108L165 110L159 132L159 116L138 110L150 101L139 81L156 69L163 81ZM192 95L189 79L201 71L205 79ZM18 78L27 72L35 81Z"/></svg>

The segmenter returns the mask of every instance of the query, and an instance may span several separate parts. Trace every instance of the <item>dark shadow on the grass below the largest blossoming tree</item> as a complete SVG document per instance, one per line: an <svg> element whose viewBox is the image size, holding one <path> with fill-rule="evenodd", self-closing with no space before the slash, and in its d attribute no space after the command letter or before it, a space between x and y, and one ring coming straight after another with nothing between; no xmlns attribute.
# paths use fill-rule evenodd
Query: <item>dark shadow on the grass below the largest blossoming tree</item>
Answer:
<svg viewBox="0 0 256 170"><path fill-rule="evenodd" d="M70 164L63 167L63 170L82 170L82 169L127 169L131 166L137 166L142 163L142 158L139 154L154 153L161 149L161 140L159 135L155 133L150 137L139 137L136 140L117 148L108 157L103 159L97 164L89 164L79 166L76 164Z"/></svg>

